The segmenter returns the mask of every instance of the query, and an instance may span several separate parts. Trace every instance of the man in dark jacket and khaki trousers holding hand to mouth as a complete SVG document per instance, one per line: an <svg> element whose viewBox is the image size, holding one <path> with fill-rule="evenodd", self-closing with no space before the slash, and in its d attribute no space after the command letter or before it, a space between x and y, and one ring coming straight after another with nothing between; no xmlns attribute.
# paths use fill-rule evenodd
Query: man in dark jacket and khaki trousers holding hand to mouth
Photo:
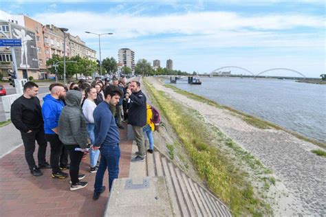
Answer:
<svg viewBox="0 0 326 217"><path fill-rule="evenodd" d="M138 146L138 155L133 162L144 161L145 144L142 128L146 125L146 96L140 90L140 82L132 81L127 94L131 100L128 113L128 124L133 127L133 136Z"/></svg>

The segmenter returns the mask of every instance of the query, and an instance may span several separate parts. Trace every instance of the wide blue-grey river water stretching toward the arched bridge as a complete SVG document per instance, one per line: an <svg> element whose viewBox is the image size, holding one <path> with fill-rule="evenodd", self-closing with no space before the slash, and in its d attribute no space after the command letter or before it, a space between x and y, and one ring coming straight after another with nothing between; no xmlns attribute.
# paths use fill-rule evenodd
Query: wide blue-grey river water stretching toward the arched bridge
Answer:
<svg viewBox="0 0 326 217"><path fill-rule="evenodd" d="M215 77L175 87L326 142L326 85L294 80ZM169 83L169 81L167 81Z"/></svg>

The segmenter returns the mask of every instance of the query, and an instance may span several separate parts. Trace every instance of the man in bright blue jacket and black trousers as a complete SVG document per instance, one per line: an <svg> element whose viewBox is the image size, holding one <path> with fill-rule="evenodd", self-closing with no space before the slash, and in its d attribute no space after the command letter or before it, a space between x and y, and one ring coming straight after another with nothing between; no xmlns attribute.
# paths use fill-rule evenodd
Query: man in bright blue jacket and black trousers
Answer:
<svg viewBox="0 0 326 217"><path fill-rule="evenodd" d="M43 98L42 115L44 120L45 140L50 142L51 154L50 164L52 166L53 179L65 179L68 174L61 172L59 168L59 159L63 143L58 137L58 120L61 110L65 106L65 88L63 84L51 84L51 93Z"/></svg>

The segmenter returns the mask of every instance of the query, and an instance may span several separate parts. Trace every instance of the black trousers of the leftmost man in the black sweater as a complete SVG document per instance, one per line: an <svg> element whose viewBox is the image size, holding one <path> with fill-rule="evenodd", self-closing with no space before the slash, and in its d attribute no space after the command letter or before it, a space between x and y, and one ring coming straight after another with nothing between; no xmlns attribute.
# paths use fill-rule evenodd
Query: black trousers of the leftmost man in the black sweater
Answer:
<svg viewBox="0 0 326 217"><path fill-rule="evenodd" d="M21 132L21 139L23 139L23 144L25 147L25 159L28 163L28 167L30 169L36 167L35 160L33 157L35 151L35 140L37 144L39 144L39 151L37 152L37 159L39 161L39 165L45 164L45 152L47 142L44 138L44 130L42 128L33 130L31 133L23 133Z"/></svg>

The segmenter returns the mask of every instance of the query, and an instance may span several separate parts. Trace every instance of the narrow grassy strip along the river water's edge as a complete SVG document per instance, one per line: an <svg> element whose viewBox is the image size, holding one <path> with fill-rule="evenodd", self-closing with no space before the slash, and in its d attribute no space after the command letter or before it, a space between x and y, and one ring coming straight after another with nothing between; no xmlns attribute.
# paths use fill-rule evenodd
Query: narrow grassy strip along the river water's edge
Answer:
<svg viewBox="0 0 326 217"><path fill-rule="evenodd" d="M203 98L202 96L199 95L195 95L193 93L189 93L187 91L184 91L182 89L178 89L177 87L174 87L173 85L170 84L165 84L165 87L169 87L171 89L173 89L173 91L180 93L182 95L185 95L188 98L191 98L193 100L197 100L199 102L204 102L206 104L209 104L211 106L215 106L219 109L227 109L228 111L231 111L232 113L236 113L237 115L239 115L239 117L241 117L241 119L243 119L245 122L247 122L248 124L255 126L257 128L261 128L261 129L268 129L268 128L274 128L276 130L283 130L287 133L290 133L291 135L294 135L294 137L298 138L298 139L302 139L304 141L308 141L312 144L315 144L316 146L320 146L321 148L326 148L326 144L321 143L319 141L316 141L314 139L309 139L307 137L304 137L303 135L300 135L298 133L295 133L291 130L287 130L285 128L282 128L281 126L278 126L276 124L272 124L271 122L267 122L265 120L259 119L257 117L254 117L252 115L248 115L246 113L242 113L241 111L237 111L235 109L232 109L229 106L224 106L221 104L217 104L217 102L214 102L213 100L208 100L207 98Z"/></svg>

